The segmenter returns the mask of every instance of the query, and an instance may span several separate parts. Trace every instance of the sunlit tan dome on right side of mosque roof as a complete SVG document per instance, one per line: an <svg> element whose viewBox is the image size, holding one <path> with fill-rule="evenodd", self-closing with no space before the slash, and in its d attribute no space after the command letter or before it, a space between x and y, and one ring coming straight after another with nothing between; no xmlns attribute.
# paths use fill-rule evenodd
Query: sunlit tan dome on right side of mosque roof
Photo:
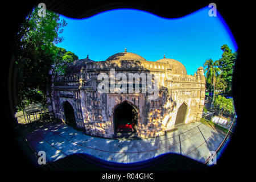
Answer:
<svg viewBox="0 0 256 182"><path fill-rule="evenodd" d="M159 62L159 63L167 63L167 64L170 64L170 67L171 67L171 72L172 73L175 73L175 74L180 74L180 75L187 75L187 70L186 68L184 67L184 65L182 63L180 63L179 61L177 60L174 60L174 59L167 59L164 58L163 59L160 59L156 62Z"/></svg>

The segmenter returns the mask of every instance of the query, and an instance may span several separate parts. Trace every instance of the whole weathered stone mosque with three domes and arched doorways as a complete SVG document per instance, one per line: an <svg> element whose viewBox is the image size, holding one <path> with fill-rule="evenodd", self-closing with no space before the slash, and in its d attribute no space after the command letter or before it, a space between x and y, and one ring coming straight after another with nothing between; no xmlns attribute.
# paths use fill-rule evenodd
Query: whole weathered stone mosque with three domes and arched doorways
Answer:
<svg viewBox="0 0 256 182"><path fill-rule="evenodd" d="M200 121L204 97L203 67L187 75L177 60L147 61L125 49L105 61L76 60L65 75L52 72L47 102L52 117L88 135L148 138Z"/></svg>

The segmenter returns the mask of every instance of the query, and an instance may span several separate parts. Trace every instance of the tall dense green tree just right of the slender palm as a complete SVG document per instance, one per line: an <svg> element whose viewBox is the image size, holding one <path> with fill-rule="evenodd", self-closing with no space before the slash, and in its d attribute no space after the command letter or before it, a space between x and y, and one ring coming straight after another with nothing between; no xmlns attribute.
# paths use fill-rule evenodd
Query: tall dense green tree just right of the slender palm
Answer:
<svg viewBox="0 0 256 182"><path fill-rule="evenodd" d="M236 63L237 52L232 52L232 50L228 47L228 45L224 44L221 46L221 50L223 51L221 59L218 60L219 68L221 69L221 80L223 80L223 84L225 84L225 92L231 92L232 89L232 76L234 70L234 64Z"/></svg>

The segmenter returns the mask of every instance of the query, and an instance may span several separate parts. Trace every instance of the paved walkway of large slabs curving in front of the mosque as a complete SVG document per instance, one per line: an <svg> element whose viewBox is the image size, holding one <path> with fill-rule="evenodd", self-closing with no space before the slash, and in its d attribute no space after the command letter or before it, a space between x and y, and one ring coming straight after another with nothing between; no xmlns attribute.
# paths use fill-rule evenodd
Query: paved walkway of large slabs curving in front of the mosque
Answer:
<svg viewBox="0 0 256 182"><path fill-rule="evenodd" d="M216 150L224 137L201 122L181 125L164 136L143 140L90 137L63 123L49 123L26 135L36 152L46 152L47 162L82 153L117 163L140 162L168 152L204 163L209 151Z"/></svg>

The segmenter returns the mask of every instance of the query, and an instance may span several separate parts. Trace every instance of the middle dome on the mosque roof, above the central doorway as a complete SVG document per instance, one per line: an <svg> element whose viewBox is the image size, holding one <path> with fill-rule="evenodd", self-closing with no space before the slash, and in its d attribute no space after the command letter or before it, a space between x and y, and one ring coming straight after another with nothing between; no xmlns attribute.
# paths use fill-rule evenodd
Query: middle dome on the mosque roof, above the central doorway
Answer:
<svg viewBox="0 0 256 182"><path fill-rule="evenodd" d="M106 61L122 61L122 60L133 60L133 61L146 61L143 57L132 53L132 52L120 52L110 56Z"/></svg>

